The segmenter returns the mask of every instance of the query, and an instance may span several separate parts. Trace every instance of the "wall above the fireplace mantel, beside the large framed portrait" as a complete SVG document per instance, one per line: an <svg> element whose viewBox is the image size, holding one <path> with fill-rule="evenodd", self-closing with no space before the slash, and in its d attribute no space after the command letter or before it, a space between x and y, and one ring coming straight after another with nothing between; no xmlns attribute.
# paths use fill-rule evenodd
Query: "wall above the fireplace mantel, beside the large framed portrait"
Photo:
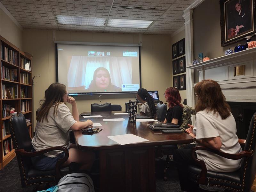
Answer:
<svg viewBox="0 0 256 192"><path fill-rule="evenodd" d="M220 31L220 1L205 0L193 11L193 48L194 59L198 60L198 54L203 53L210 59L225 55L225 51L231 48L234 51L237 43L221 47ZM252 39L256 39L253 37ZM240 44L245 44L245 39Z"/></svg>

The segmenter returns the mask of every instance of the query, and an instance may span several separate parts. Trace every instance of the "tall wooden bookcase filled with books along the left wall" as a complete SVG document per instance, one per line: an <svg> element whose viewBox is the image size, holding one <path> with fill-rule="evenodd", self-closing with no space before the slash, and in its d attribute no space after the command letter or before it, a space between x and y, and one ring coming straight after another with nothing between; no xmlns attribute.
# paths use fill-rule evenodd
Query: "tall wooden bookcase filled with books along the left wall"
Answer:
<svg viewBox="0 0 256 192"><path fill-rule="evenodd" d="M0 36L1 59L1 133L0 133L0 170L8 164L15 152L10 135L10 112L22 112L26 119L28 130L33 137L33 103L32 103L32 73L31 56ZM28 70L26 70L26 67Z"/></svg>

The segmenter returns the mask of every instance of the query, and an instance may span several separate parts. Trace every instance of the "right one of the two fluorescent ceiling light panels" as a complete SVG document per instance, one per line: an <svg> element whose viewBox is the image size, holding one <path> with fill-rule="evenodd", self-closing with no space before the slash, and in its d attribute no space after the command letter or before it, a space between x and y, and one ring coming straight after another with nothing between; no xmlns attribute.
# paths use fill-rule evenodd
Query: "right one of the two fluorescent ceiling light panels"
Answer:
<svg viewBox="0 0 256 192"><path fill-rule="evenodd" d="M153 21L131 19L108 19L108 27L148 28Z"/></svg>

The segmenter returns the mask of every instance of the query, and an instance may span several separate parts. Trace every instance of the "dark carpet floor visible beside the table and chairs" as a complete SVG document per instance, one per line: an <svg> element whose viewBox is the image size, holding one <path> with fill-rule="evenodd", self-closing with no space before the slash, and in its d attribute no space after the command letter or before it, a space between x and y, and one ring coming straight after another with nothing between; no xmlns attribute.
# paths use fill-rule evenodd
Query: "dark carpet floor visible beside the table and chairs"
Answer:
<svg viewBox="0 0 256 192"><path fill-rule="evenodd" d="M180 191L178 172L173 162L170 164L167 181L163 180L163 169L164 161L156 161L156 192ZM34 187L21 188L20 172L16 157L0 171L0 183L0 192L32 192L34 189Z"/></svg>

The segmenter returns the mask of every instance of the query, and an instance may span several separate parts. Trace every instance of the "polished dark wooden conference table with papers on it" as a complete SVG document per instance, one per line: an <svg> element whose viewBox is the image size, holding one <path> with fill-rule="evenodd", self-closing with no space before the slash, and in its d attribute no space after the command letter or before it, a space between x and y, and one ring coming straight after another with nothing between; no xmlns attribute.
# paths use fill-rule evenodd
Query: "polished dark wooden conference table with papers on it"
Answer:
<svg viewBox="0 0 256 192"><path fill-rule="evenodd" d="M100 191L156 191L155 146L192 143L193 138L186 133L161 133L152 131L147 124L153 122L130 123L128 114L114 115L122 111L86 112L91 119L100 123L102 131L85 135L82 131L74 132L76 145L81 150L99 152ZM125 121L103 121L103 119L124 118ZM94 127L95 128L95 127ZM108 136L134 134L148 141L120 145Z"/></svg>

